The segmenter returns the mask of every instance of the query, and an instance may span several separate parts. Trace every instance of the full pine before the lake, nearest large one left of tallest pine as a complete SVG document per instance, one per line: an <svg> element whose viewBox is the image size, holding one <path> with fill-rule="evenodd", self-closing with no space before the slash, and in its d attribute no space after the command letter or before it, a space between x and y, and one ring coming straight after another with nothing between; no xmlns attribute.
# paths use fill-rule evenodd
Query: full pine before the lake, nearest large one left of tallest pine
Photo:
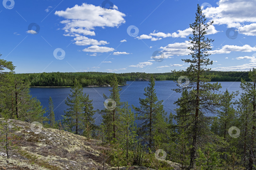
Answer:
<svg viewBox="0 0 256 170"><path fill-rule="evenodd" d="M153 137L156 130L161 133L162 128L160 125L164 122L164 116L166 115L163 110L163 101L157 99L155 93L155 81L153 76L149 80L149 86L144 89L146 96L145 99L139 98L140 107L134 107L134 110L140 115L138 120L141 121L141 132L144 139L149 141L149 149L153 148ZM166 127L165 127L166 128ZM160 135L160 134L159 134Z"/></svg>

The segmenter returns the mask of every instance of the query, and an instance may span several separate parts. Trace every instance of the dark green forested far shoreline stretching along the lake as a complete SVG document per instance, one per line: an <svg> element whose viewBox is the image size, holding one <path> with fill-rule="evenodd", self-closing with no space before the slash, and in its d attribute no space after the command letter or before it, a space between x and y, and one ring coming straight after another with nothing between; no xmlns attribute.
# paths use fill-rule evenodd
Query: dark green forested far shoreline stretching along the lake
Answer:
<svg viewBox="0 0 256 170"><path fill-rule="evenodd" d="M106 86L110 83L114 73L106 72L52 72L52 73L22 73L17 74L25 82L30 82L31 87L71 87L78 81L82 87ZM248 71L207 71L208 75L215 75L212 82L240 82L241 78L249 81ZM177 80L179 77L173 72L169 73L116 73L118 84L125 85L126 81L149 80L153 75L154 80Z"/></svg>

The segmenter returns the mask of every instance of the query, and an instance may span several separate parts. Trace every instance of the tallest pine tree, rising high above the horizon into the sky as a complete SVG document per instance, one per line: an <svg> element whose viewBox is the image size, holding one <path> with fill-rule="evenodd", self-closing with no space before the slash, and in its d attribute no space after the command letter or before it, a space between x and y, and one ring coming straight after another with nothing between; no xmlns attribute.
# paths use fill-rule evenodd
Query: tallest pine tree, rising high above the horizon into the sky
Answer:
<svg viewBox="0 0 256 170"><path fill-rule="evenodd" d="M218 83L210 84L209 82L213 75L206 74L206 71L210 71L206 66L213 64L213 61L210 61L210 59L207 58L210 55L208 54L208 51L211 50L210 43L213 42L213 40L206 39L204 35L206 34L208 27L212 24L213 21L206 23L205 15L202 14L202 9L198 5L195 22L190 24L190 27L193 30L193 37L189 37L192 46L188 49L191 50L190 55L192 55L192 59L182 59L184 62L190 63L190 66L186 71L174 71L177 76L186 76L190 79L190 83L187 84L187 86L175 89L176 92L182 92L185 88L189 89L188 97L192 98L192 100L188 100L189 102L186 104L193 107L189 116L193 119L193 128L191 132L192 148L189 169L192 169L194 166L196 147L198 144L197 139L203 128L203 126L198 123L204 123L201 117L204 117L204 114L207 111L214 111L213 106L216 105L217 101L217 95L214 94L214 91L221 87Z"/></svg>

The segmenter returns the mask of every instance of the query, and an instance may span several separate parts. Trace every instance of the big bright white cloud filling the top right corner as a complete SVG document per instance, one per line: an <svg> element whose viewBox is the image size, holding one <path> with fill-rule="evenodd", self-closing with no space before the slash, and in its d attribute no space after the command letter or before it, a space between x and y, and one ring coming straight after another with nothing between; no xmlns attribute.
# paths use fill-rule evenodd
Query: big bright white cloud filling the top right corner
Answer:
<svg viewBox="0 0 256 170"><path fill-rule="evenodd" d="M229 28L238 28L242 34L255 35L255 0L220 0L217 5L203 10L208 19L214 20L214 24L225 24ZM253 24L244 25L248 23Z"/></svg>

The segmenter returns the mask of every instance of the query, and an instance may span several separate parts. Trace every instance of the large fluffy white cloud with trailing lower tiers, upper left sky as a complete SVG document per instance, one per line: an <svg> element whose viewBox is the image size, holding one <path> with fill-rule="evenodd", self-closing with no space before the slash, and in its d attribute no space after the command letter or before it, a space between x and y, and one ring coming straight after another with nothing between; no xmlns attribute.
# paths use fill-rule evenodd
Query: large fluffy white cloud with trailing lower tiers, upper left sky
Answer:
<svg viewBox="0 0 256 170"><path fill-rule="evenodd" d="M119 25L125 23L125 14L118 11L115 5L112 10L107 11L100 6L83 3L72 8L56 11L55 15L64 18L60 22L64 24L64 36L75 37L75 44L81 46L93 45L92 47L94 47L108 44L107 41L98 41L85 36L95 36L95 27L119 27ZM99 49L99 51L96 51L96 49ZM109 52L113 50L108 47L94 47L93 50L85 48L83 51L101 53L102 51Z"/></svg>

